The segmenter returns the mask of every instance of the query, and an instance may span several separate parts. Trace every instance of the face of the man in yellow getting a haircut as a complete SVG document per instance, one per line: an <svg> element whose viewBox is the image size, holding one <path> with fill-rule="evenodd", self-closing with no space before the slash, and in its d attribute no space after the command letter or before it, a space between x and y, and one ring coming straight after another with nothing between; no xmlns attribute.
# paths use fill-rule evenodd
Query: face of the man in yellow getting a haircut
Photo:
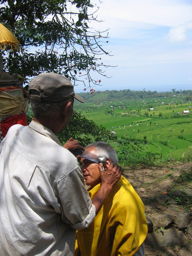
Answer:
<svg viewBox="0 0 192 256"><path fill-rule="evenodd" d="M86 149L87 152L96 154L95 147L91 146ZM99 164L96 164L86 158L81 158L81 170L85 179L85 183L88 186L96 186L101 182Z"/></svg>

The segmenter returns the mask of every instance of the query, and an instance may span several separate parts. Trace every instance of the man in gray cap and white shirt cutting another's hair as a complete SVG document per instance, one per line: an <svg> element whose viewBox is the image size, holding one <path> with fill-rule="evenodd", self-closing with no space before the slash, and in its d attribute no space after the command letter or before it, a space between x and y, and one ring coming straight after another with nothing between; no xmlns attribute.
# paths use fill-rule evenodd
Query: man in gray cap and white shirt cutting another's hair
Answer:
<svg viewBox="0 0 192 256"><path fill-rule="evenodd" d="M29 126L12 126L0 144L1 256L72 256L76 230L93 221L118 182L122 169L111 164L100 175L102 185L92 201L78 161L56 134L73 114L74 93L66 77L45 73L31 80L34 118Z"/></svg>

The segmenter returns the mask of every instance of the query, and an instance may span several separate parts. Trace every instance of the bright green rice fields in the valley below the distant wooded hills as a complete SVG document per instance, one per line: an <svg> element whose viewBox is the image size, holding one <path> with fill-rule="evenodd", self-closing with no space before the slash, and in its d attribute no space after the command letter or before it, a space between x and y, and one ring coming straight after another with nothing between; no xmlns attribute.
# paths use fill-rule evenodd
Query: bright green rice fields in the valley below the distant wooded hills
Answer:
<svg viewBox="0 0 192 256"><path fill-rule="evenodd" d="M105 101L75 104L88 120L116 132L117 138L144 139L149 152L181 157L192 146L191 102L181 98ZM102 101L103 100L103 101ZM100 103L102 102L102 103ZM171 103L170 103L171 102ZM152 110L150 110L152 108Z"/></svg>

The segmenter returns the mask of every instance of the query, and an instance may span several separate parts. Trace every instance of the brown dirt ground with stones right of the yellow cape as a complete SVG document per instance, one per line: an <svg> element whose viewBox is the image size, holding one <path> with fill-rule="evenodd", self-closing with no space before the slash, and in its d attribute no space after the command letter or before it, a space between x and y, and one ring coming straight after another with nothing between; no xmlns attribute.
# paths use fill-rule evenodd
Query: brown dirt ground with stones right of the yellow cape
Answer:
<svg viewBox="0 0 192 256"><path fill-rule="evenodd" d="M124 170L146 209L146 256L192 256L192 164Z"/></svg>

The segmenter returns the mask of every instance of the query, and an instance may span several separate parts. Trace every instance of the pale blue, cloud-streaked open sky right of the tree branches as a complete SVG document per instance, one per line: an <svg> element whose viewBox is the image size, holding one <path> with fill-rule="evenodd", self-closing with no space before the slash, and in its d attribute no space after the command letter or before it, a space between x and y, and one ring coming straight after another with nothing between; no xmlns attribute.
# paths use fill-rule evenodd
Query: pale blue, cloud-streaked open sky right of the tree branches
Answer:
<svg viewBox="0 0 192 256"><path fill-rule="evenodd" d="M109 29L105 78L95 90L192 90L192 0L103 0L96 30ZM75 87L82 92L83 87Z"/></svg>

